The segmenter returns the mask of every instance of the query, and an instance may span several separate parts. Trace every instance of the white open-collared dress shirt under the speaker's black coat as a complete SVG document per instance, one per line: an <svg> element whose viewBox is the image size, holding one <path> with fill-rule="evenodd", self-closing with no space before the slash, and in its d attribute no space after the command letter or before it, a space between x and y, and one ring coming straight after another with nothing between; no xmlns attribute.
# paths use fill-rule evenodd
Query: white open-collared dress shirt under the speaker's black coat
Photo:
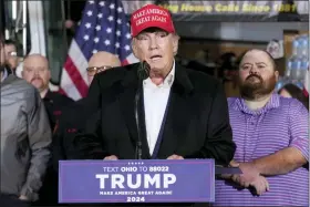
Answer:
<svg viewBox="0 0 310 207"><path fill-rule="evenodd" d="M153 83L149 77L143 82L146 136L151 155L157 142L174 77L175 63L161 85Z"/></svg>

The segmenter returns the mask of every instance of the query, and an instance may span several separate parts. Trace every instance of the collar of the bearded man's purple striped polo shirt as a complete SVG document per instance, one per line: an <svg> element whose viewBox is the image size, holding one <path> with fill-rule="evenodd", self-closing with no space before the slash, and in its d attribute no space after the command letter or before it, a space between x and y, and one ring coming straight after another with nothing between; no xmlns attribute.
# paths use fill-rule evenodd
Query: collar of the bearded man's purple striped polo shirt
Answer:
<svg viewBox="0 0 310 207"><path fill-rule="evenodd" d="M269 110L276 108L280 106L280 96L277 93L272 93L272 95L270 96L269 101L267 102L267 104L257 110L257 111L252 111L250 110L245 100L241 97L238 97L235 100L235 102L232 103L232 108L237 110L237 111L241 111L246 114L251 114L251 115L260 115L266 113Z"/></svg>

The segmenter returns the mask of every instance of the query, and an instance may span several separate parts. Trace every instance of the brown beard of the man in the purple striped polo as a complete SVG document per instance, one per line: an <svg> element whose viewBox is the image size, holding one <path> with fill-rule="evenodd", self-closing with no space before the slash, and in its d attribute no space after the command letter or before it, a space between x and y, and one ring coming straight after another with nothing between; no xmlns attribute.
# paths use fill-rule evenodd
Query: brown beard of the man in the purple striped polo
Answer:
<svg viewBox="0 0 310 207"><path fill-rule="evenodd" d="M252 82L252 79L258 79L259 82ZM265 95L269 95L275 90L277 80L273 74L268 80L262 80L261 76L257 74L249 75L244 82L239 80L240 95L245 100L258 100Z"/></svg>

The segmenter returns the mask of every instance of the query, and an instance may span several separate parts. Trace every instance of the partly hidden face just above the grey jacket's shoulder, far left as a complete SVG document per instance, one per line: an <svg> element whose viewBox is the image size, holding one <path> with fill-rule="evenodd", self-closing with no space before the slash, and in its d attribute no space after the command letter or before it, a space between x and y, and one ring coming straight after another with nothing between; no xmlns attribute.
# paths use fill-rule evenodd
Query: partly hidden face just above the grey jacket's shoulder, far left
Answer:
<svg viewBox="0 0 310 207"><path fill-rule="evenodd" d="M17 43L13 40L4 41L4 55L6 64L16 74L17 66L19 64Z"/></svg>

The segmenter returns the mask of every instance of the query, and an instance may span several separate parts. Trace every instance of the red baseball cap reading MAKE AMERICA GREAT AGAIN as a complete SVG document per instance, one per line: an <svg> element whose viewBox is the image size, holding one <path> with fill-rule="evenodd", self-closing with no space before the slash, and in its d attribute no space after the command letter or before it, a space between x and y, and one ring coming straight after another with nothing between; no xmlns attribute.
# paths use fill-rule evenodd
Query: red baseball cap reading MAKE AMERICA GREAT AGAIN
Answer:
<svg viewBox="0 0 310 207"><path fill-rule="evenodd" d="M136 37L147 28L159 28L169 33L175 32L169 11L155 4L146 4L133 12L131 17L132 37Z"/></svg>

